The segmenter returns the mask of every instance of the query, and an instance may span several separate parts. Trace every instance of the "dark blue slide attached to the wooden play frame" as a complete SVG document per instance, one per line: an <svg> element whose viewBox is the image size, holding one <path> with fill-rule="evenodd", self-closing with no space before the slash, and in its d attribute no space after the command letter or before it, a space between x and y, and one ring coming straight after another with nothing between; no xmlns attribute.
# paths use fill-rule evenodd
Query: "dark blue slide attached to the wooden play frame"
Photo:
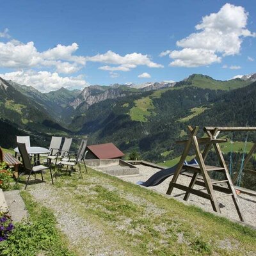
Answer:
<svg viewBox="0 0 256 256"><path fill-rule="evenodd" d="M192 159L189 162L185 161L184 164L195 165L198 163L197 163L196 159ZM172 176L175 173L176 168L177 168L177 164L175 164L175 166L172 166L168 169L161 170L161 171L155 173L154 175L152 175L145 182L139 181L139 182L137 182L137 184L141 185L141 186L145 186L145 187L157 186L157 185L161 184L165 179ZM185 172L185 171L182 171L182 172Z"/></svg>

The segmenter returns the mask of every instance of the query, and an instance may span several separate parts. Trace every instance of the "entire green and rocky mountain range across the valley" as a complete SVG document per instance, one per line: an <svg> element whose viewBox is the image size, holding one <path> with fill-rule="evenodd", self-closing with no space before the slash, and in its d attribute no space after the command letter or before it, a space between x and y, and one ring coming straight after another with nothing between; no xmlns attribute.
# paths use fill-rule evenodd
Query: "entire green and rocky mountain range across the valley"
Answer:
<svg viewBox="0 0 256 256"><path fill-rule="evenodd" d="M17 134L39 138L45 146L52 134L89 136L89 143L111 141L124 152L137 150L144 159L162 161L163 152L180 153L179 147L173 150L175 140L186 136L188 124L256 126L255 77L219 81L193 74L179 82L49 93L0 78L0 145L15 147Z"/></svg>

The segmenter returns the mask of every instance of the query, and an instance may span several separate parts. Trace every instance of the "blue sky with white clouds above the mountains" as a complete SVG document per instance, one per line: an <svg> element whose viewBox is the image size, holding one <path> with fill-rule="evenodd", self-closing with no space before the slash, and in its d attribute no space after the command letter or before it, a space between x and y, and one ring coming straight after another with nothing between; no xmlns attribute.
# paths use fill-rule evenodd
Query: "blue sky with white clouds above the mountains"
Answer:
<svg viewBox="0 0 256 256"><path fill-rule="evenodd" d="M252 74L255 10L253 0L1 1L0 77L49 92Z"/></svg>

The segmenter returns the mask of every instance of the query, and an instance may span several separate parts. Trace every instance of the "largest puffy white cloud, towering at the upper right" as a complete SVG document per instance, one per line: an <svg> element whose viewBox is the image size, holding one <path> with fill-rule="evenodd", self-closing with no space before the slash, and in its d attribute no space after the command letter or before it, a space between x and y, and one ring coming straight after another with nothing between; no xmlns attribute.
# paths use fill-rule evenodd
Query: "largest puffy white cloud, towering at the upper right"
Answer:
<svg viewBox="0 0 256 256"><path fill-rule="evenodd" d="M199 67L220 62L222 56L239 54L241 43L246 36L256 36L256 33L246 29L248 12L242 6L225 4L218 13L211 13L202 18L202 22L195 26L199 32L192 33L186 38L177 41L181 51L170 52L170 58L174 61L172 66ZM180 52L180 54L179 54ZM196 54L197 52L197 54ZM199 56L209 56L210 60L204 60ZM187 54L187 56L186 56ZM182 58L180 58L182 56ZM189 57L193 57L190 61Z"/></svg>

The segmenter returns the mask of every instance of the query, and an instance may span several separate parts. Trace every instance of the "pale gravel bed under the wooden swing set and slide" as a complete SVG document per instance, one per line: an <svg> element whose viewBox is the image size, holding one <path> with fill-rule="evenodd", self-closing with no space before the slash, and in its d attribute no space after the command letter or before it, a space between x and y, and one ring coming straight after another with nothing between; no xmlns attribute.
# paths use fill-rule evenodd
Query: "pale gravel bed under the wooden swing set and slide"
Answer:
<svg viewBox="0 0 256 256"><path fill-rule="evenodd" d="M122 180L129 181L136 184L136 182L138 181L147 180L150 176L152 176L154 173L159 171L159 169L157 168L152 168L152 167L141 165L141 164L137 165L136 167L140 169L140 175L118 176L118 177ZM168 189L170 180L171 178L168 178L158 186L149 187L148 189L152 189L154 191L158 191L160 193L165 194ZM179 175L178 182L180 184L184 184L188 186L190 180L191 178L189 177L186 177L184 175ZM195 189L202 189L202 187L195 186ZM184 195L185 195L184 191L176 188L173 189L172 196L177 200L184 202L183 200ZM223 195L223 193L216 191L216 196L221 196L221 195ZM256 227L256 218L255 218L256 196L240 194L238 198L239 198L239 203L241 205L241 209L243 211L246 223ZM203 208L205 211L213 212L211 202L205 198L191 194L188 202ZM239 216L237 214L236 207L234 205L234 202L231 196L219 198L218 202L220 203L221 213L223 214L223 216L226 216L232 220L239 221Z"/></svg>

